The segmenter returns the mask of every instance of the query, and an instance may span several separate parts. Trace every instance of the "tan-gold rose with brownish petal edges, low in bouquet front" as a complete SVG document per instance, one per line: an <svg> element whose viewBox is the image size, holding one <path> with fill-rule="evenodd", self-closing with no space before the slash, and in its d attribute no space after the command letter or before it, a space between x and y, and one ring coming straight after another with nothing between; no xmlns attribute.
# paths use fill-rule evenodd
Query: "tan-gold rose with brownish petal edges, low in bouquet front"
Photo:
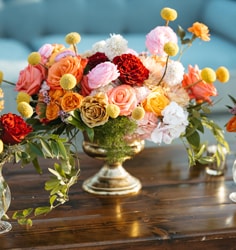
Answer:
<svg viewBox="0 0 236 250"><path fill-rule="evenodd" d="M107 105L107 97L102 93L86 96L80 107L81 119L90 128L105 124L109 119Z"/></svg>

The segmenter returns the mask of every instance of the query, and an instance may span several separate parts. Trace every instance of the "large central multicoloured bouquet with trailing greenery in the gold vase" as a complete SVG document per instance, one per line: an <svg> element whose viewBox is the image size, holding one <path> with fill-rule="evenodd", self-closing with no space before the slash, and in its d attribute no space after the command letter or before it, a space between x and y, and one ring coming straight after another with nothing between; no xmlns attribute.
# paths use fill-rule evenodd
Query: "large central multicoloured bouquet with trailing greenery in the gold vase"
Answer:
<svg viewBox="0 0 236 250"><path fill-rule="evenodd" d="M65 135L66 143L82 131L88 140L107 148L111 161L126 154L133 140L150 140L159 145L177 138L183 140L191 166L221 161L222 148L228 149L228 144L223 130L208 114L214 104L211 97L217 96L214 83L227 82L229 72L223 66L213 70L199 69L197 65L188 65L186 72L180 61L183 51L195 39L209 41L208 27L194 23L188 28L188 38L180 26L177 32L169 26L177 18L174 9L163 8L161 16L165 25L147 34L147 51L134 51L124 37L113 34L79 54L77 44L81 37L72 32L65 37L68 47L44 44L32 52L15 85L19 92L17 109L27 118L30 131L57 139ZM216 139L218 150L213 156L205 154L207 142L201 141L205 128ZM28 140L24 139L24 152L29 150ZM45 140L40 146L36 142L30 145L30 150L33 146L40 148L43 157L50 156L56 147ZM64 153L69 151L66 149ZM23 152L19 158L25 161ZM64 173L58 176L58 172L62 169L51 172L60 179ZM69 171L69 176L73 178L73 173L76 179L76 171ZM54 200L57 186L53 182L48 186Z"/></svg>

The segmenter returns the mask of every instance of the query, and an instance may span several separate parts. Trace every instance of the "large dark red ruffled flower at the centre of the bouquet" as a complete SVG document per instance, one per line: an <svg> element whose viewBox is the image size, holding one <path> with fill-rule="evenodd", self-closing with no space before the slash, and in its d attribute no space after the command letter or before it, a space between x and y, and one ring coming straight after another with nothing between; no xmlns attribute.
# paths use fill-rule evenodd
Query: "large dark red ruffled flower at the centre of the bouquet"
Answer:
<svg viewBox="0 0 236 250"><path fill-rule="evenodd" d="M123 84L142 86L149 76L149 70L133 54L116 56L113 63L117 65L120 72L119 79Z"/></svg>

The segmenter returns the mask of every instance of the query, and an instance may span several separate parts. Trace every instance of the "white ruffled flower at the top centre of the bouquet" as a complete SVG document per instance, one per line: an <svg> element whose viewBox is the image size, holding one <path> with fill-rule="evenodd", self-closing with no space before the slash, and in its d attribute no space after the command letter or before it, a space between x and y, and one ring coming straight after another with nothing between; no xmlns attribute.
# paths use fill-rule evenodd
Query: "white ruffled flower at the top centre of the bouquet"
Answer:
<svg viewBox="0 0 236 250"><path fill-rule="evenodd" d="M125 40L121 35L113 34L106 40L104 52L109 60L121 54L124 54L128 50L128 41Z"/></svg>

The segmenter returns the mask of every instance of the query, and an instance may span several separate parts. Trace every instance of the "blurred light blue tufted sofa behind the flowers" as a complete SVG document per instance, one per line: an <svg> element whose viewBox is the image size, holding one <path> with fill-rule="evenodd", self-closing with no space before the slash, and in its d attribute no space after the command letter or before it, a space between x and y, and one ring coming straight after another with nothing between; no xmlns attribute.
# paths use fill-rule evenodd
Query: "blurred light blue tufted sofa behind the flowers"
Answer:
<svg viewBox="0 0 236 250"><path fill-rule="evenodd" d="M182 62L185 68L228 67L231 80L217 84L223 99L214 108L225 112L228 94L236 96L235 0L0 0L0 70L6 79L16 81L30 52L44 43L64 44L71 31L81 34L80 52L111 33L122 34L129 47L144 51L146 34L164 24L159 14L163 7L178 11L178 19L170 24L173 29L177 25L187 29L195 21L208 25L211 41L195 41ZM15 111L12 87L4 90L12 96L6 100L6 111Z"/></svg>

